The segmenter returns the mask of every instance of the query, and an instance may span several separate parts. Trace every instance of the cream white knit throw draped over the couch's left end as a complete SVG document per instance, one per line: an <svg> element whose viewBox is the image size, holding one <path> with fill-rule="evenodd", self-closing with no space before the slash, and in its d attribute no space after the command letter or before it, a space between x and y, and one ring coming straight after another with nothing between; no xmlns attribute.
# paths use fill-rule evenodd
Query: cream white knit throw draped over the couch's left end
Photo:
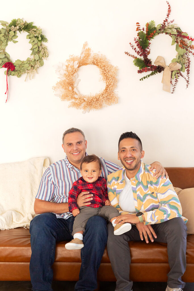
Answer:
<svg viewBox="0 0 194 291"><path fill-rule="evenodd" d="M43 173L49 166L45 157L0 164L0 229L29 228L35 216L34 200Z"/></svg>

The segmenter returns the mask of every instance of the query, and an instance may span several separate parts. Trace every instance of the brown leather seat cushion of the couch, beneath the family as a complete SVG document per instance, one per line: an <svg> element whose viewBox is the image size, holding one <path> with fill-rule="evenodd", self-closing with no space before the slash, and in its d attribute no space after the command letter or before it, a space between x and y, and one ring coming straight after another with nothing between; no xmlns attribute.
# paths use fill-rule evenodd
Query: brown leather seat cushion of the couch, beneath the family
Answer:
<svg viewBox="0 0 194 291"><path fill-rule="evenodd" d="M129 242L132 263L168 263L167 244ZM0 262L30 262L31 247L28 229L19 227L0 230ZM194 235L187 237L187 263L194 262ZM65 242L58 242L55 262L81 262L80 250L66 250ZM105 249L102 263L109 263Z"/></svg>

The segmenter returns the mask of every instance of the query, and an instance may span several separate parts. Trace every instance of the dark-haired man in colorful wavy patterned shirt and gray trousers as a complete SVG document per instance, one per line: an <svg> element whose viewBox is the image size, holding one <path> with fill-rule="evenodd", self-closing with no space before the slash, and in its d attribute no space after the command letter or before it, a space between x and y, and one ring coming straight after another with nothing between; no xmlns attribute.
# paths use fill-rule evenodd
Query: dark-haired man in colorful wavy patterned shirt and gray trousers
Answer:
<svg viewBox="0 0 194 291"><path fill-rule="evenodd" d="M133 132L120 136L118 159L123 168L108 175L108 198L120 216L115 223L134 223L131 230L115 237L108 225L108 256L117 279L116 291L131 291L131 262L128 241L148 238L168 244L168 285L166 291L181 291L181 276L186 269L186 221L181 204L168 178L154 177L151 166L144 164L142 143ZM143 238L144 236L144 238Z"/></svg>

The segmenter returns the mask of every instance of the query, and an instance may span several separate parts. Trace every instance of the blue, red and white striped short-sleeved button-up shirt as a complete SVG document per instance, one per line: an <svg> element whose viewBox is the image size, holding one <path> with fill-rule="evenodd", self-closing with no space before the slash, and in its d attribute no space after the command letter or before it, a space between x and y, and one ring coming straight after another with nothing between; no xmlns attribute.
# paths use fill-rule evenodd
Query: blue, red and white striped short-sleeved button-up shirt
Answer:
<svg viewBox="0 0 194 291"><path fill-rule="evenodd" d="M107 176L120 169L120 166L100 158L102 164L101 176ZM68 203L68 194L73 183L81 177L81 172L67 159L51 164L40 181L38 193L35 198L55 203ZM69 218L70 212L56 214L57 218Z"/></svg>

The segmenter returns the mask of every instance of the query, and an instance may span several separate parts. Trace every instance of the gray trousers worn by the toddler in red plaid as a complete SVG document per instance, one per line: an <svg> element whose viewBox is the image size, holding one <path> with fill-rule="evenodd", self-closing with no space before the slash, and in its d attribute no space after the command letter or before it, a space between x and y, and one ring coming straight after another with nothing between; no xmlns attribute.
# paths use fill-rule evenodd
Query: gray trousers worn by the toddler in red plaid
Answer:
<svg viewBox="0 0 194 291"><path fill-rule="evenodd" d="M75 217L72 235L78 231L85 231L86 223L92 216L98 215L110 221L113 217L119 216L118 210L113 206L89 207L83 206L79 209L80 213Z"/></svg>

